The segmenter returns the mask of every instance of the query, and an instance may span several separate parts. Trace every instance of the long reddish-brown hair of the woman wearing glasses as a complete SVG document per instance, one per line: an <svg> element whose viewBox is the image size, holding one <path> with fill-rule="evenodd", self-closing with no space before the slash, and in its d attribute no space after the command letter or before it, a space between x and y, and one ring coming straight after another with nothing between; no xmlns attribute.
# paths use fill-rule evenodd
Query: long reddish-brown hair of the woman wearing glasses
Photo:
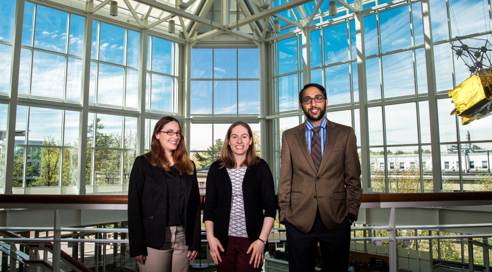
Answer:
<svg viewBox="0 0 492 272"><path fill-rule="evenodd" d="M178 123L181 131L181 139L178 143L178 147L175 151L172 152L174 164L180 172L180 175L182 175L183 173L191 175L193 174L194 168L193 164L189 160L188 151L186 151L186 145L184 144L183 129L181 128L180 122L174 117L166 116L157 121L154 126L154 133L152 133L151 151L145 153L144 156L153 166L160 166L166 171L171 171L171 166L169 165L166 153L162 149L162 146L160 145L160 142L159 140L157 140L155 135L164 127L164 125L172 121Z"/></svg>

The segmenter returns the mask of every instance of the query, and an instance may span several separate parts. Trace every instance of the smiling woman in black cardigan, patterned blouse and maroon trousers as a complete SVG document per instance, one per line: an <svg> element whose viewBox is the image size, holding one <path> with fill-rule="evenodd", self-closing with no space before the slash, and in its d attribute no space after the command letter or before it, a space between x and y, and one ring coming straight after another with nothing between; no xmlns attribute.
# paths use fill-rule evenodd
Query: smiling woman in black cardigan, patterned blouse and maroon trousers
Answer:
<svg viewBox="0 0 492 272"><path fill-rule="evenodd" d="M207 176L203 221L217 272L260 271L276 215L272 172L249 125L237 121Z"/></svg>

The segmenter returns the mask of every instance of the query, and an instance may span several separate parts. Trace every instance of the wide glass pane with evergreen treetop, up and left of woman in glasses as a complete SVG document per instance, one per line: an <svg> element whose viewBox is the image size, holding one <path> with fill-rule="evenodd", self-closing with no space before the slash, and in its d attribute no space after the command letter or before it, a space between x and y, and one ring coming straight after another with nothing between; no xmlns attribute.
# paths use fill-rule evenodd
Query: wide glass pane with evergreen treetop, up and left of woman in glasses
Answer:
<svg viewBox="0 0 492 272"><path fill-rule="evenodd" d="M96 147L122 147L122 117L116 115L97 114Z"/></svg>

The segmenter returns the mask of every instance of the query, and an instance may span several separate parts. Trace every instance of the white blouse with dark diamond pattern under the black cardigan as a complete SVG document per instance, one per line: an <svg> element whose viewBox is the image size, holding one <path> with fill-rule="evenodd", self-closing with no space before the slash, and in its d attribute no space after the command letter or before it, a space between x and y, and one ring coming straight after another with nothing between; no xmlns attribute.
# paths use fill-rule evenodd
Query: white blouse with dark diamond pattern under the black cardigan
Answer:
<svg viewBox="0 0 492 272"><path fill-rule="evenodd" d="M229 236L247 237L245 206L243 202L243 179L246 167L237 169L227 168L232 181L231 219L229 221Z"/></svg>

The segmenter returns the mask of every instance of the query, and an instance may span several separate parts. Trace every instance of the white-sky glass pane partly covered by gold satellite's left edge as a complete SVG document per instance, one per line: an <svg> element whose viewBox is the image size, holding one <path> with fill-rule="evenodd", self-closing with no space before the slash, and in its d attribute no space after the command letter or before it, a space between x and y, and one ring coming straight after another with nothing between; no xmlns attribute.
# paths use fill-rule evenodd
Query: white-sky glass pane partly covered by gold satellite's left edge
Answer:
<svg viewBox="0 0 492 272"><path fill-rule="evenodd" d="M455 108L451 98L437 100L437 113L439 119L439 140L444 142L455 142L456 139L456 116L450 115Z"/></svg>

